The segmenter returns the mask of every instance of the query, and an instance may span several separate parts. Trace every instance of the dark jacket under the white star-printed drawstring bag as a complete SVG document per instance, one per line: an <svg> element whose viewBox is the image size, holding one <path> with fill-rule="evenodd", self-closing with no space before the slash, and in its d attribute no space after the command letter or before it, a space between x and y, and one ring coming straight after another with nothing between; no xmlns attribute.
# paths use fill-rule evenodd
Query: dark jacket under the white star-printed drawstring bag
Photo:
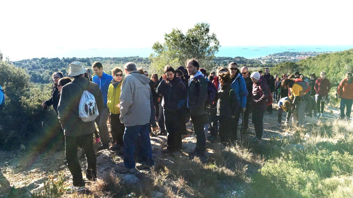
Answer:
<svg viewBox="0 0 353 198"><path fill-rule="evenodd" d="M96 129L94 121L83 122L78 117L78 106L84 91L83 89L94 96L99 113L104 108L102 92L96 83L89 82L82 77L67 83L61 89L58 105L58 117L65 136L82 136L90 134Z"/></svg>

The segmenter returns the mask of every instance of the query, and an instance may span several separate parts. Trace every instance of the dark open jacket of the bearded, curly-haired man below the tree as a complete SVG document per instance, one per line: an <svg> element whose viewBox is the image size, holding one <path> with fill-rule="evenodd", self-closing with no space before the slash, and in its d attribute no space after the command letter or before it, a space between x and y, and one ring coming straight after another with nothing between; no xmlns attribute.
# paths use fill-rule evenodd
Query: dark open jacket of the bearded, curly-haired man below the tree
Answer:
<svg viewBox="0 0 353 198"><path fill-rule="evenodd" d="M203 75L190 78L187 96L187 107L189 108L190 115L206 114L207 82Z"/></svg>

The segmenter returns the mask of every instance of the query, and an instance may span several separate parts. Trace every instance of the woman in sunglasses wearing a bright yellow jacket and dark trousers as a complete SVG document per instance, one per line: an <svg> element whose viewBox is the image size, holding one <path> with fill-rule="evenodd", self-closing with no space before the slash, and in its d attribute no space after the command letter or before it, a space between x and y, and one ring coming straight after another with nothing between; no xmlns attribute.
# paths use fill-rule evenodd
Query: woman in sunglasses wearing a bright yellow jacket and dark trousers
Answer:
<svg viewBox="0 0 353 198"><path fill-rule="evenodd" d="M113 80L108 88L108 100L107 107L110 111L110 131L112 132L114 144L109 149L119 149L124 146L122 142L122 137L124 136L125 126L120 122L120 108L118 104L120 104L120 92L121 92L121 84L122 84L122 70L119 68L113 69Z"/></svg>

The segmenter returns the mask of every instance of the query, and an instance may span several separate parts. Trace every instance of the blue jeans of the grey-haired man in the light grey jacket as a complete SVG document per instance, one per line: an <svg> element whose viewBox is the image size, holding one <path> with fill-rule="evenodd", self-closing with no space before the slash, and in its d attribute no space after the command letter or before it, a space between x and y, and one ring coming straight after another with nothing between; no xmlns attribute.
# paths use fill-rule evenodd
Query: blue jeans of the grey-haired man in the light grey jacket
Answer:
<svg viewBox="0 0 353 198"><path fill-rule="evenodd" d="M150 124L126 126L124 132L124 165L126 168L135 168L134 152L137 141L140 141L142 160L150 166L154 165L152 147L149 135ZM139 139L139 140L138 140Z"/></svg>

